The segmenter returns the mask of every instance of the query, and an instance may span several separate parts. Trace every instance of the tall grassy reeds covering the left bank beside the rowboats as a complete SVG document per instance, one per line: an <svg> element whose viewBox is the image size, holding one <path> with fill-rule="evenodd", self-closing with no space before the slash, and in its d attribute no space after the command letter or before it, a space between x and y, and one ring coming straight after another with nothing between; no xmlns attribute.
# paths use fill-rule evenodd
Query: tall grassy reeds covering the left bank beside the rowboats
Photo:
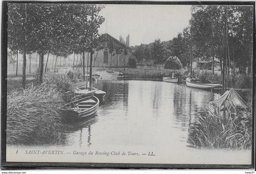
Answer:
<svg viewBox="0 0 256 174"><path fill-rule="evenodd" d="M62 129L59 108L74 96L66 75L50 75L44 83L7 94L7 144L54 144Z"/></svg>

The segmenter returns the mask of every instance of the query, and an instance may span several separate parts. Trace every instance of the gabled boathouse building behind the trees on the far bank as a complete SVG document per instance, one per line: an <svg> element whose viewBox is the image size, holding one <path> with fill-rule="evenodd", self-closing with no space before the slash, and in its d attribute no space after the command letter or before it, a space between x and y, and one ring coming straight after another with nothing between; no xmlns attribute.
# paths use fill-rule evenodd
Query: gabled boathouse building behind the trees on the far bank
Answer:
<svg viewBox="0 0 256 174"><path fill-rule="evenodd" d="M126 41L119 41L108 33L101 36L102 49L93 54L93 66L96 67L126 67L130 57L129 35Z"/></svg>

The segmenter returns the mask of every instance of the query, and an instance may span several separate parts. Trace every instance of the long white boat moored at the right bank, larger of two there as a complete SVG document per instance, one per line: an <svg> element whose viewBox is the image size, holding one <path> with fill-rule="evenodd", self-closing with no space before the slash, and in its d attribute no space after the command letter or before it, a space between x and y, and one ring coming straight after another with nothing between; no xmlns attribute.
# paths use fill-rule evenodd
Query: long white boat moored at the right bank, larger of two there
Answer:
<svg viewBox="0 0 256 174"><path fill-rule="evenodd" d="M201 81L197 78L186 78L186 85L191 88L199 89L219 89L222 87L221 84L213 83L210 80Z"/></svg>

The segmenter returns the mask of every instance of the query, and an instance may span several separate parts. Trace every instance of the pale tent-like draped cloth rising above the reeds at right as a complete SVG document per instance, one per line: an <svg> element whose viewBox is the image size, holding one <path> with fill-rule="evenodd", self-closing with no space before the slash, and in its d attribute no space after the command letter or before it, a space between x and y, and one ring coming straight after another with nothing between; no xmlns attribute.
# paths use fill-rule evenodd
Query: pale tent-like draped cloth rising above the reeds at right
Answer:
<svg viewBox="0 0 256 174"><path fill-rule="evenodd" d="M239 94L235 91L235 89L231 88L229 91L226 91L218 100L210 102L208 108L211 113L217 113L221 116L224 109L229 110L232 114L235 114L236 108L247 108L247 105L242 97L239 96Z"/></svg>

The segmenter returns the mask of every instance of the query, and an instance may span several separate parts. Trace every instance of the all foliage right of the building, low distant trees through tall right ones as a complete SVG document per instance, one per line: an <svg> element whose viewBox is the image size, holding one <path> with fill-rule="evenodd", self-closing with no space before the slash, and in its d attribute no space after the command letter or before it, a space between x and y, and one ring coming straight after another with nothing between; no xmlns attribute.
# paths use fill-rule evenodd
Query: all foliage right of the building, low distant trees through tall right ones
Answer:
<svg viewBox="0 0 256 174"><path fill-rule="evenodd" d="M170 41L154 41L150 44L133 46L132 53L138 62L152 60L162 63L169 56L176 56L183 66L190 66L190 58L201 60L223 60L224 50L224 7L225 5L193 5L190 26ZM228 5L227 29L231 68L245 73L252 65L253 7ZM154 45L154 47L153 47ZM158 50L157 50L158 49ZM149 50L149 51L148 51ZM148 54L150 52L151 54ZM153 53L157 53L154 54ZM160 56L161 55L161 56Z"/></svg>

